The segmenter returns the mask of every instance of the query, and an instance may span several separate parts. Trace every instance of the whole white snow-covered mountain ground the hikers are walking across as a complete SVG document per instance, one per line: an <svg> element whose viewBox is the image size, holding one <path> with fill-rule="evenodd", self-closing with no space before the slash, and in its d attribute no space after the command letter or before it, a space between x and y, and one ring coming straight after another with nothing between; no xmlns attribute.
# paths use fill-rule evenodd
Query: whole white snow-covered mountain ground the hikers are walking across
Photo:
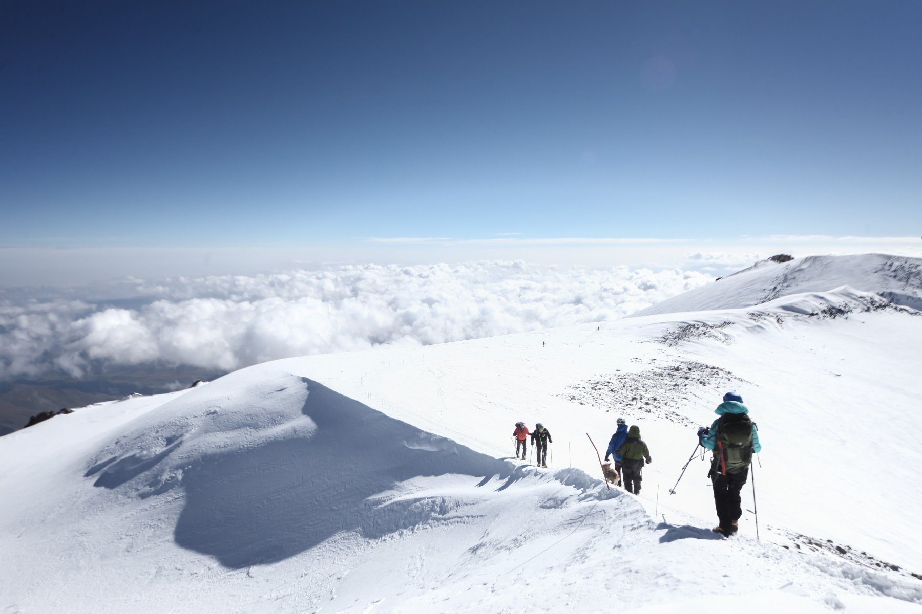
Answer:
<svg viewBox="0 0 922 614"><path fill-rule="evenodd" d="M281 360L6 435L0 612L919 612L922 313L877 294L881 259L918 295L917 259L818 258L862 273ZM723 539L694 446L731 388L762 454ZM653 458L639 496L586 437L604 455L619 415ZM520 420L550 469L514 458Z"/></svg>

